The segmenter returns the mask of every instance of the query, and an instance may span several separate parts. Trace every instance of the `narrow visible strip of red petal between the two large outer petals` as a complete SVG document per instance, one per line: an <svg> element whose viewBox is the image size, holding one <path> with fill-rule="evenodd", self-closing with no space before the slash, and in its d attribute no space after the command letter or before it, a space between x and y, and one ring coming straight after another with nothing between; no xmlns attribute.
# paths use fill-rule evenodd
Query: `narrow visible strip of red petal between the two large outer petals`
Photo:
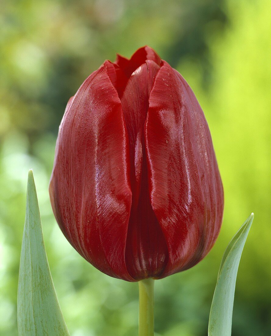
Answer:
<svg viewBox="0 0 271 336"><path fill-rule="evenodd" d="M159 276L167 264L167 246L153 212L148 188L144 124L149 95L160 67L147 60L130 77L121 98L129 137L132 207L126 242L126 266L137 280Z"/></svg>

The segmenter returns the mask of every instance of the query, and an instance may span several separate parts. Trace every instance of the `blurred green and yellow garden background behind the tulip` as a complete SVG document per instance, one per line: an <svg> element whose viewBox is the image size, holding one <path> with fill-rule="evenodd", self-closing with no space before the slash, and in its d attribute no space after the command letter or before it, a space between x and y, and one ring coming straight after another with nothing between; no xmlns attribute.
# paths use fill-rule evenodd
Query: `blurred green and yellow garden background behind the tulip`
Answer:
<svg viewBox="0 0 271 336"><path fill-rule="evenodd" d="M80 257L58 228L48 183L58 125L84 79L118 52L152 46L205 111L225 191L209 255L156 281L156 336L207 335L223 251L253 211L236 284L233 336L271 334L271 2L10 0L0 3L0 334L17 335L26 180L34 169L45 245L72 336L137 335L138 284Z"/></svg>

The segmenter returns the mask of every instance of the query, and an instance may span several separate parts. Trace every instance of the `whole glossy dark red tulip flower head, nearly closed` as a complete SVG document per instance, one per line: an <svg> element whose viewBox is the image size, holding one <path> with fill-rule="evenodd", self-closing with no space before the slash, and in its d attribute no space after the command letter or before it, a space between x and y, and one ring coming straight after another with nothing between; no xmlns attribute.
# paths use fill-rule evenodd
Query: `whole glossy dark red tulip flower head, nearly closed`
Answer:
<svg viewBox="0 0 271 336"><path fill-rule="evenodd" d="M70 98L49 189L70 244L127 281L192 267L221 226L223 187L203 111L149 47L105 61Z"/></svg>

